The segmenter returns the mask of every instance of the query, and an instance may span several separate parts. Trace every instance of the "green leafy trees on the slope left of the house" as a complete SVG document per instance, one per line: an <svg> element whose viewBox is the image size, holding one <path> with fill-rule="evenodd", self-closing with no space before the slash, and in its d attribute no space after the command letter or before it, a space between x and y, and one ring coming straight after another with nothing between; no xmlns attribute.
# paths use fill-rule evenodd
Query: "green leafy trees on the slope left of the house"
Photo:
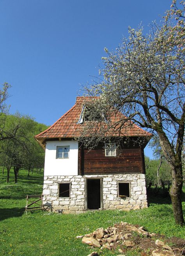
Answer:
<svg viewBox="0 0 185 256"><path fill-rule="evenodd" d="M0 116L4 118L4 116ZM11 167L14 168L14 181L17 183L18 172L21 168L30 170L44 167L44 151L34 139L34 135L47 129L44 124L35 122L29 116L22 116L18 113L15 115L6 115L4 131L17 127L14 137L2 140L0 142L0 159L1 163L7 169L7 182L9 182L9 173Z"/></svg>

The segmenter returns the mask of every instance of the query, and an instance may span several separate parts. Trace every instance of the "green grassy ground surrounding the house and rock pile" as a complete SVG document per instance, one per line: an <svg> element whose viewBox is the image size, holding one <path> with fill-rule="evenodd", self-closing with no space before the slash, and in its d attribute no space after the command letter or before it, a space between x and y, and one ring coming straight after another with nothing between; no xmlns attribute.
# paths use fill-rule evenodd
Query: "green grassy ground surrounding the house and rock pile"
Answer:
<svg viewBox="0 0 185 256"><path fill-rule="evenodd" d="M185 228L174 223L170 200L164 202L158 198L157 203L156 198L149 198L150 207L140 211L96 211L79 215L37 211L26 216L25 195L42 193L43 174L28 177L25 171L20 171L17 184L13 183L13 172L8 184L5 176L0 168L0 255L86 256L95 250L75 237L121 221L142 225L149 232L167 237L185 238ZM110 256L119 252L105 249L99 254ZM131 255L139 254L126 254Z"/></svg>

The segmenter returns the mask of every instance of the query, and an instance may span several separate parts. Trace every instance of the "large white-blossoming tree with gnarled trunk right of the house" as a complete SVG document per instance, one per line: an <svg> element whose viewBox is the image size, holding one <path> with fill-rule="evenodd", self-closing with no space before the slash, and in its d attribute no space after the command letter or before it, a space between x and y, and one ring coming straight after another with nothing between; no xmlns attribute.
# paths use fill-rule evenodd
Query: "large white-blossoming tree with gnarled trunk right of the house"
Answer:
<svg viewBox="0 0 185 256"><path fill-rule="evenodd" d="M84 124L81 138L92 136L95 142L110 129L115 134L132 122L158 135L160 147L172 175L170 196L177 224L183 225L181 189L183 185L181 153L185 129L185 30L184 2L181 9L167 13L162 25L154 24L146 36L142 29L129 28L129 37L115 52L105 48L103 80L86 87L87 95L100 95L96 111L106 119ZM86 103L89 109L91 103ZM113 112L124 114L121 121L109 122ZM108 113L108 114L107 114ZM93 120L93 119L92 119ZM131 122L132 121L132 122ZM95 128L94 128L95 127ZM93 133L94 131L94 133ZM86 140L87 145L92 142ZM99 137L99 138L98 138Z"/></svg>

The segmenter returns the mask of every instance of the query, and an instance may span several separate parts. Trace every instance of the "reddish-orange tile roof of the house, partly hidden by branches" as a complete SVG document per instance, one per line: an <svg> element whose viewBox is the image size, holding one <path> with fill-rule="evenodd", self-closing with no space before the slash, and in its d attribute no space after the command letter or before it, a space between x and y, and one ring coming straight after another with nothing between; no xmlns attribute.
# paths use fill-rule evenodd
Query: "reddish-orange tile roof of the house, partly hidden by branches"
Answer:
<svg viewBox="0 0 185 256"><path fill-rule="evenodd" d="M36 140L47 139L47 138L74 138L80 135L80 128L82 124L77 123L80 114L82 113L83 102L96 99L99 97L76 97L76 103L68 112L61 116L53 125L48 129L39 133L35 136ZM123 119L123 114L117 114L111 121L117 122ZM111 134L112 133L112 134ZM116 136L115 131L110 132L109 136ZM135 124L121 128L121 136L151 136L150 133L144 131Z"/></svg>

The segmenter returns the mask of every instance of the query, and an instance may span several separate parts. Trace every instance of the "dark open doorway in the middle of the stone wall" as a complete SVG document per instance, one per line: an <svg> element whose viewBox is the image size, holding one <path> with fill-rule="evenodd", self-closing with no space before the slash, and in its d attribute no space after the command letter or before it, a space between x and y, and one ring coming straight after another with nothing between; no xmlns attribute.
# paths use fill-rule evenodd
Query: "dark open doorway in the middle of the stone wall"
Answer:
<svg viewBox="0 0 185 256"><path fill-rule="evenodd" d="M101 208L101 180L87 179L87 209Z"/></svg>

